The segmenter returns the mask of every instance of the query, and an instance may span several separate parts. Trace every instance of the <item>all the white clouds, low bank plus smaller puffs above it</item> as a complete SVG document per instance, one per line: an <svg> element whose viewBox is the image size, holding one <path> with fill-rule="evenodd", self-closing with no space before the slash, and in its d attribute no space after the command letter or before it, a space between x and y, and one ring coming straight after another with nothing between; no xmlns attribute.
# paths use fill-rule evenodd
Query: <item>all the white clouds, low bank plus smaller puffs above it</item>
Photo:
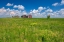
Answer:
<svg viewBox="0 0 64 42"><path fill-rule="evenodd" d="M59 3L52 4L53 6L59 5ZM61 1L60 5L64 5L64 0ZM2 7L0 8L0 17L12 17L18 15L28 15L31 14L33 18L46 18L47 15L50 15L51 18L64 18L64 8L54 11L50 7L38 7L38 9L32 9L29 12L25 10L23 5L14 5L7 3L6 6L13 6L13 9Z"/></svg>

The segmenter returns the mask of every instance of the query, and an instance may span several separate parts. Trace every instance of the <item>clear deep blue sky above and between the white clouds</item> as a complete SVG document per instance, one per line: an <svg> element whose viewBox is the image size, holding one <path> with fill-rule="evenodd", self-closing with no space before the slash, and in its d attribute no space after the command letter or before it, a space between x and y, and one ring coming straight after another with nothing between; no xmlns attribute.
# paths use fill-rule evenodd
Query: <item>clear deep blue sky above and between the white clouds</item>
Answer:
<svg viewBox="0 0 64 42"><path fill-rule="evenodd" d="M61 0L1 0L0 1L0 8L1 7L6 7L7 3L13 3L15 5L23 5L25 7L26 10L31 10L31 9L37 9L38 7L42 6L42 7L50 7L52 9L54 8L63 8L62 6L59 7L53 7L52 4L55 2L61 2ZM11 7L13 8L13 7ZM56 9L54 9L56 10Z"/></svg>

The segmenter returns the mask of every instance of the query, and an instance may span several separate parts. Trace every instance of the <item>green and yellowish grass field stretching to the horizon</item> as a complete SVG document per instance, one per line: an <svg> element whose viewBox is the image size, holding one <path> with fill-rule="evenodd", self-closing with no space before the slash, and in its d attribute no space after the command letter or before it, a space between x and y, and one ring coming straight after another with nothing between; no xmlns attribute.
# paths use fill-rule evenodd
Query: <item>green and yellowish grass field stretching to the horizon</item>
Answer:
<svg viewBox="0 0 64 42"><path fill-rule="evenodd" d="M64 42L64 18L0 18L0 42Z"/></svg>

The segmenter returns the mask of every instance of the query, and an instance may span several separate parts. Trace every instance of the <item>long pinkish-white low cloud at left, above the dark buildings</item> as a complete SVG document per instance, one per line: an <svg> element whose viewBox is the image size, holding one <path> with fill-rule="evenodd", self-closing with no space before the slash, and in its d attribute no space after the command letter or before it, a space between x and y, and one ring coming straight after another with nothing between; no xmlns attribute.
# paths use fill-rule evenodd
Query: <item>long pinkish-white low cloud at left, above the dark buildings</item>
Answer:
<svg viewBox="0 0 64 42"><path fill-rule="evenodd" d="M0 17L11 17L11 16L21 16L22 14L26 14L26 12L23 12L21 10L15 10L15 9L5 9L5 8L0 8Z"/></svg>

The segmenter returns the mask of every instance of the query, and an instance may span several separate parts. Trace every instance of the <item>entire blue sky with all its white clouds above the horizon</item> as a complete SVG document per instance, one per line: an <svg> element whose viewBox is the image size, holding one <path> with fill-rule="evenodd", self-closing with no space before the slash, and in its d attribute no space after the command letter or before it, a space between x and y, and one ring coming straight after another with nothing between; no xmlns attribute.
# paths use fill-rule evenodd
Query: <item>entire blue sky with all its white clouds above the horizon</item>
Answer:
<svg viewBox="0 0 64 42"><path fill-rule="evenodd" d="M29 14L33 18L64 18L64 0L0 0L0 18Z"/></svg>

